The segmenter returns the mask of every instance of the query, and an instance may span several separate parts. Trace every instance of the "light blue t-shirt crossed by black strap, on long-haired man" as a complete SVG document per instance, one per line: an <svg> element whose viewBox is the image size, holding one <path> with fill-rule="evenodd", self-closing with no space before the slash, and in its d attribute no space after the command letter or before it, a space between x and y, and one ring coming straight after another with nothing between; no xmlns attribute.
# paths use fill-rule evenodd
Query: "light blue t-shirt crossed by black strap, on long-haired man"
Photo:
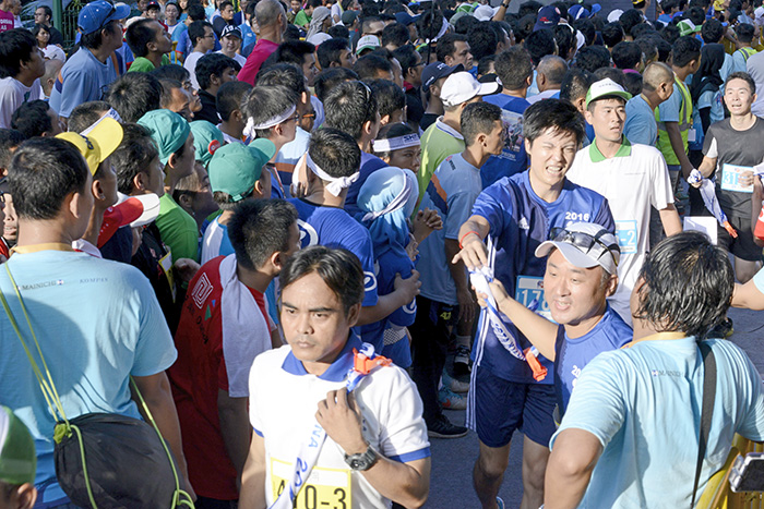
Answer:
<svg viewBox="0 0 764 509"><path fill-rule="evenodd" d="M764 439L762 377L730 341L706 341L716 399L697 493L725 463L736 433ZM599 354L581 374L560 429L595 435L602 455L581 508L689 507L697 462L703 361L695 339L646 340ZM596 411L593 411L596 409Z"/></svg>

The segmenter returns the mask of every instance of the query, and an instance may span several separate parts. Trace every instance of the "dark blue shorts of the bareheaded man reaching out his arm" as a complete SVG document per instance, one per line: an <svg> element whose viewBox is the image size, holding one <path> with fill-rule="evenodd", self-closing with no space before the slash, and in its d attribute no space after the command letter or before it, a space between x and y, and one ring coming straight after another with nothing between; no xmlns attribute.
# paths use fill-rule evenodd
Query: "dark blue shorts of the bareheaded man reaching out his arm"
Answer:
<svg viewBox="0 0 764 509"><path fill-rule="evenodd" d="M470 390L475 431L488 447L504 447L520 429L536 444L549 447L554 426L554 386L518 384L499 378L485 367L474 367Z"/></svg>

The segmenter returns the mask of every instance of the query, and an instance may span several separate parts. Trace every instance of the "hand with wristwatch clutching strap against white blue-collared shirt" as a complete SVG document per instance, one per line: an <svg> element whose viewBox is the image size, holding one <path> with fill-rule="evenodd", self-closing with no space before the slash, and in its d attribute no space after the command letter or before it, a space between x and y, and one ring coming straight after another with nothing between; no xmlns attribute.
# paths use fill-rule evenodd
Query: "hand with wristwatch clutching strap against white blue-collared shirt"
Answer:
<svg viewBox="0 0 764 509"><path fill-rule="evenodd" d="M356 398L353 392L348 395L347 389L327 392L326 399L319 401L315 420L345 453L360 455L369 447L361 433Z"/></svg>

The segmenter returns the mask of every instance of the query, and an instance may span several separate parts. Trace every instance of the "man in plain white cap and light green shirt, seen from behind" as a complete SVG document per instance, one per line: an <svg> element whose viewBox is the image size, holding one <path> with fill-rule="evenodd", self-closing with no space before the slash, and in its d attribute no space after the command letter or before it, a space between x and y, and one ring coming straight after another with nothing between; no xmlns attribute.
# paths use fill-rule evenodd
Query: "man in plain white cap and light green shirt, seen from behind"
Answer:
<svg viewBox="0 0 764 509"><path fill-rule="evenodd" d="M466 71L455 72L443 83L440 98L443 117L435 120L421 137L421 168L419 170L419 195L425 194L430 178L443 159L464 150L462 136L462 111L469 102L482 100L482 96L496 94L498 83L479 83Z"/></svg>

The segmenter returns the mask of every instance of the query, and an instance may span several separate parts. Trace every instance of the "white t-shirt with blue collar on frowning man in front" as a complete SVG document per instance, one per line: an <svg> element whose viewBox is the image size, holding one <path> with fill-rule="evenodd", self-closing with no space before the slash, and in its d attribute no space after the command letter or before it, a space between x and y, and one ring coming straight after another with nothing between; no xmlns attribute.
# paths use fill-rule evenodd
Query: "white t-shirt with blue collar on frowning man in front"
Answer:
<svg viewBox="0 0 764 509"><path fill-rule="evenodd" d="M265 500L273 504L282 480L294 475L298 451L310 439L318 403L330 390L345 387L353 366L353 348L360 341L351 334L329 369L317 377L286 346L258 355L250 371L250 421L265 441ZM401 462L430 456L419 393L405 371L395 365L374 369L355 390L361 413L363 438L380 455ZM307 447L307 446L306 446ZM297 498L313 497L307 507L348 509L389 508L391 502L360 472L350 470L345 452L331 438ZM323 504L325 501L327 504Z"/></svg>

